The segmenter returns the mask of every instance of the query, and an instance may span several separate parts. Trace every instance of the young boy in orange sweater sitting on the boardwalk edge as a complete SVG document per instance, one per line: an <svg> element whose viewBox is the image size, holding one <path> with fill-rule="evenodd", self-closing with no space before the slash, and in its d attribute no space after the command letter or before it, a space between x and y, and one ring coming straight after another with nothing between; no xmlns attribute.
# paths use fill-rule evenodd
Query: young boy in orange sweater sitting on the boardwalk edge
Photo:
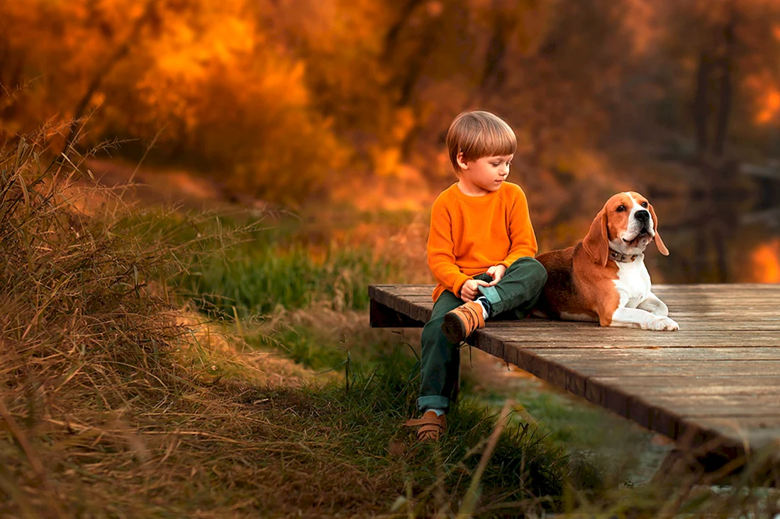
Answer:
<svg viewBox="0 0 780 519"><path fill-rule="evenodd" d="M420 365L422 418L417 440L438 440L456 397L460 343L488 318L524 317L537 302L547 272L534 255L537 241L519 185L506 182L515 132L487 111L464 112L447 132L458 182L431 210L428 267L434 289L431 320L423 328ZM499 317L500 316L500 317Z"/></svg>

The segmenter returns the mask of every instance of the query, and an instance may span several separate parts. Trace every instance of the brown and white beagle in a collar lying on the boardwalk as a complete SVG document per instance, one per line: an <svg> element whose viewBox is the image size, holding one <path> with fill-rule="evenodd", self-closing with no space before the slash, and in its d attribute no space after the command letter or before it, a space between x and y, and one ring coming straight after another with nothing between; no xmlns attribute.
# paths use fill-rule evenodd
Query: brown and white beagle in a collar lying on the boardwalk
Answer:
<svg viewBox="0 0 780 519"><path fill-rule="evenodd" d="M679 330L664 302L651 291L644 266L644 249L650 242L669 255L653 206L638 192L612 196L582 241L537 256L548 281L534 315L597 321L602 327Z"/></svg>

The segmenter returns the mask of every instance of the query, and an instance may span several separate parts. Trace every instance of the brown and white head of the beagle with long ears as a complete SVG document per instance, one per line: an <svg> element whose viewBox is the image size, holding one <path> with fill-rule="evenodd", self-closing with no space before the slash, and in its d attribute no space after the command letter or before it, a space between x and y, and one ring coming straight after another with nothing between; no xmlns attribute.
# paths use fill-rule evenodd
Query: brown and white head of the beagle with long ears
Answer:
<svg viewBox="0 0 780 519"><path fill-rule="evenodd" d="M633 256L655 242L664 256L669 251L658 234L658 217L647 199L638 192L620 192L610 197L598 212L583 240L588 256L606 266L609 249Z"/></svg>

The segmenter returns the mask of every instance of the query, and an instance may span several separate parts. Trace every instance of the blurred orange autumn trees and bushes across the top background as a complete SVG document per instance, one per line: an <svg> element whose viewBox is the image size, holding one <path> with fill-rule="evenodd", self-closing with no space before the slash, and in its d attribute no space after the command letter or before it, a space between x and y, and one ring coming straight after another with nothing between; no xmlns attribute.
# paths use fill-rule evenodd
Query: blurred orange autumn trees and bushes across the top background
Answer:
<svg viewBox="0 0 780 519"><path fill-rule="evenodd" d="M582 183L605 136L652 138L659 103L690 101L693 76L672 76L718 51L728 9L711 3L0 0L0 84L31 82L14 108L0 89L0 134L94 111L83 145L158 136L163 159L243 195L418 208L452 178L441 133L485 108L537 188L568 189L551 171ZM736 3L734 132L780 113L778 9Z"/></svg>

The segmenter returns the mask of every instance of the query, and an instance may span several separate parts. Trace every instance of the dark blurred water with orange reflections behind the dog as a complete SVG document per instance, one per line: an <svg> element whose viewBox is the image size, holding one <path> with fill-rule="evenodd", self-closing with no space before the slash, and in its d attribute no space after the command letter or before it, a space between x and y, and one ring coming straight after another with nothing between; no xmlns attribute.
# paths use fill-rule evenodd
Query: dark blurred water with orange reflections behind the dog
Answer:
<svg viewBox="0 0 780 519"><path fill-rule="evenodd" d="M650 245L645 263L654 283L780 282L780 181L726 170L685 196L647 189L670 255ZM778 177L780 178L780 177ZM566 222L584 236L594 214ZM537 233L538 235L539 233ZM572 245L558 229L544 229L549 249Z"/></svg>

